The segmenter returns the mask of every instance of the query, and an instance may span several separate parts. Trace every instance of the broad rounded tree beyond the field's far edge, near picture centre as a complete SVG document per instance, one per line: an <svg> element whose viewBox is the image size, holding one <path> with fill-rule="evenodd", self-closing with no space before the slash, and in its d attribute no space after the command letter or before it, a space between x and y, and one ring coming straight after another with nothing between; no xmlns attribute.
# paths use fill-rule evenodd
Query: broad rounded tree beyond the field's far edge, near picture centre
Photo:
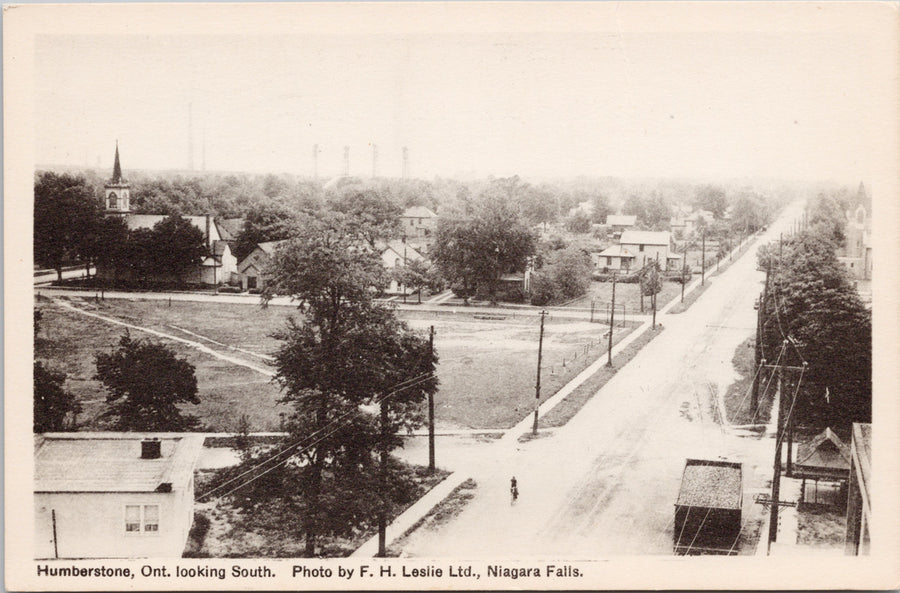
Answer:
<svg viewBox="0 0 900 593"><path fill-rule="evenodd" d="M508 200L482 196L472 217L438 221L433 249L449 282L462 283L467 294L483 284L495 301L501 276L525 269L535 241Z"/></svg>

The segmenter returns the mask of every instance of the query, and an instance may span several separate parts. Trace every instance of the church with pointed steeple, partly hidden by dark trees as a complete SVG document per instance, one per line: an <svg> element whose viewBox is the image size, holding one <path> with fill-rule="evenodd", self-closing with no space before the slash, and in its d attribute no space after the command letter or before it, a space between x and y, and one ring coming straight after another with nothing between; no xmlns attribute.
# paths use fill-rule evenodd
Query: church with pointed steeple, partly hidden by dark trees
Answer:
<svg viewBox="0 0 900 593"><path fill-rule="evenodd" d="M128 230L152 229L166 218L164 214L134 214L131 212L131 184L122 176L119 163L119 145L116 144L116 159L113 174L104 186L104 211L106 216L119 216L128 225ZM222 239L222 232L211 214L203 216L184 216L184 219L203 233L207 255L203 261L186 272L180 280L188 284L219 285L236 281L237 259L231 254L228 243ZM108 270L97 269L100 277L109 277ZM164 279L161 279L164 280Z"/></svg>

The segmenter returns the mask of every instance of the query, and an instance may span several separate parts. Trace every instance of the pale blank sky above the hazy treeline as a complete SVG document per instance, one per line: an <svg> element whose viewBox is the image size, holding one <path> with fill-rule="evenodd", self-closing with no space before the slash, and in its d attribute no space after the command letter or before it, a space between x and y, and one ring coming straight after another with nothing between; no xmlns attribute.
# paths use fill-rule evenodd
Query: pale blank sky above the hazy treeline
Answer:
<svg viewBox="0 0 900 593"><path fill-rule="evenodd" d="M652 14L652 13L651 13ZM634 21L632 21L634 22ZM646 18L644 19L646 22ZM174 27L173 27L174 29ZM51 33L35 41L35 160L339 174L871 174L883 39L777 26ZM877 160L877 159L876 159Z"/></svg>

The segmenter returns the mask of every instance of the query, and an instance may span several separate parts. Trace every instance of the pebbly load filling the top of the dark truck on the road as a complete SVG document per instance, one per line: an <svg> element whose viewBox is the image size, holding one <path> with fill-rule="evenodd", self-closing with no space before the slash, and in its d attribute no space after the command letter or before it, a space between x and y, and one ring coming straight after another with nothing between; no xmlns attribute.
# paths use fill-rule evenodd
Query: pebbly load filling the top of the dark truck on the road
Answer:
<svg viewBox="0 0 900 593"><path fill-rule="evenodd" d="M675 504L740 509L742 494L739 463L689 459L684 466Z"/></svg>

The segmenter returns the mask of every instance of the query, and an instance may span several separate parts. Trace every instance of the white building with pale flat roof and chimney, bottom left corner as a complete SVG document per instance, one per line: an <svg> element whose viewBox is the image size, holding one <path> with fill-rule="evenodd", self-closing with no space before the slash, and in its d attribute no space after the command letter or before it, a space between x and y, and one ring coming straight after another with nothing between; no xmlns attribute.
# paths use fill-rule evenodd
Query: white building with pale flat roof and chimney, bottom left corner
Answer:
<svg viewBox="0 0 900 593"><path fill-rule="evenodd" d="M202 447L189 433L35 435L35 558L180 557Z"/></svg>

